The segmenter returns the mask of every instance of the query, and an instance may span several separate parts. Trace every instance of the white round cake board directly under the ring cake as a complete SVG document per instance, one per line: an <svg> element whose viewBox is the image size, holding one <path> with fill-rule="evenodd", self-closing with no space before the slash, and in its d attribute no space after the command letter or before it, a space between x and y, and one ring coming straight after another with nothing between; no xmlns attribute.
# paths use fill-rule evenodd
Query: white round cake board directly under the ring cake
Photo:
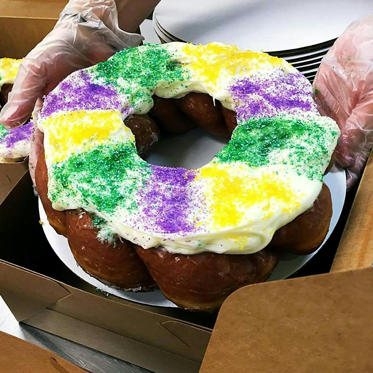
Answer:
<svg viewBox="0 0 373 373"><path fill-rule="evenodd" d="M183 136L170 136L169 138L162 139L162 141L153 147L152 153L147 158L147 161L153 164L170 167L178 166L189 169L198 168L203 164L208 163L225 145L225 143L226 141L206 135L206 132L197 128ZM324 181L327 186L329 186L333 203L332 220L330 222L329 231L325 238L326 241L338 222L344 204L346 194L345 172L343 170L329 172L324 177ZM110 288L104 283L88 275L76 264L76 261L70 251L68 240L63 236L58 235L49 225L46 213L40 200L39 213L40 220L44 223L43 230L49 244L57 256L63 261L63 263L65 263L66 266L68 266L69 269L80 278L98 289L126 300L160 307L176 307L176 305L167 300L159 290L148 293L121 291ZM319 249L317 249L317 251L322 248L323 244L319 247ZM283 254L279 264L276 266L272 276L270 277L270 280L284 279L297 272L317 253L317 251L315 251L313 254L305 256L289 253Z"/></svg>

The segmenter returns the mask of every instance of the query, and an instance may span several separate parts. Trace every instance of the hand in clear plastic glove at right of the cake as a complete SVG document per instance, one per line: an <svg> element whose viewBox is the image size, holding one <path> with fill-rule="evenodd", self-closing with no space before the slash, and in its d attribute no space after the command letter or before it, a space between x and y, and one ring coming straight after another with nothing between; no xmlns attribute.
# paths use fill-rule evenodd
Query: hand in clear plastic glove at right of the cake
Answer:
<svg viewBox="0 0 373 373"><path fill-rule="evenodd" d="M320 113L341 129L336 162L347 170L350 189L373 145L373 15L351 23L336 40L313 88Z"/></svg>

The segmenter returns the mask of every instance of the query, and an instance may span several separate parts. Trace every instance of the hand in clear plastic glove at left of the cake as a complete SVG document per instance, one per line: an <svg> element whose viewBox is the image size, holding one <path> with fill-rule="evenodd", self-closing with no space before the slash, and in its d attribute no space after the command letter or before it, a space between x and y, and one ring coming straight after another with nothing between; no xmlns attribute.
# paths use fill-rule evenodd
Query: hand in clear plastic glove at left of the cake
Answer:
<svg viewBox="0 0 373 373"><path fill-rule="evenodd" d="M54 29L23 60L0 122L24 123L41 99L71 72L137 46L143 37L118 26L114 0L70 0Z"/></svg>

